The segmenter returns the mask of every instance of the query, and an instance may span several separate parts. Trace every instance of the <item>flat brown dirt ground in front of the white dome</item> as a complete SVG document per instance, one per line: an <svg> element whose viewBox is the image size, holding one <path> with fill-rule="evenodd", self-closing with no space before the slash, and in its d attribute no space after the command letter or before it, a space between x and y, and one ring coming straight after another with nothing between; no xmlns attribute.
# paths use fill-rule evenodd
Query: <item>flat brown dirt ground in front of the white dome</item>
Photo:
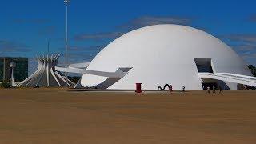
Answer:
<svg viewBox="0 0 256 144"><path fill-rule="evenodd" d="M255 143L256 91L0 90L0 143Z"/></svg>

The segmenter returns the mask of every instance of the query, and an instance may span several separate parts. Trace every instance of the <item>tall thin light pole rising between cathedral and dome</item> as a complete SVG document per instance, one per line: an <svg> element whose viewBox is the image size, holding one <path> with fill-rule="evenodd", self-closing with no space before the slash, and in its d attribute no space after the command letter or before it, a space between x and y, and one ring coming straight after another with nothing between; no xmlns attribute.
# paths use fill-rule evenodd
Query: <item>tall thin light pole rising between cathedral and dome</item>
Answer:
<svg viewBox="0 0 256 144"><path fill-rule="evenodd" d="M66 47L66 53L65 53L65 64L67 66L67 49L68 49L68 7L70 5L70 0L64 0L64 4L66 5L66 42L65 42L65 47ZM66 77L66 87L67 87L67 72L65 74Z"/></svg>

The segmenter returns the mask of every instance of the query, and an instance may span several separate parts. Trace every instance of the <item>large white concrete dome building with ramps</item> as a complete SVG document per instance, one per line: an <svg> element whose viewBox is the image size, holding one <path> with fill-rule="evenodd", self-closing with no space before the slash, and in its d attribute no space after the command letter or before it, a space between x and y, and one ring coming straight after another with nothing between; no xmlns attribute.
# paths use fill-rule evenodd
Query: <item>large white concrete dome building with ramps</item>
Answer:
<svg viewBox="0 0 256 144"><path fill-rule="evenodd" d="M83 74L81 85L134 90L135 83L142 83L143 90L157 90L165 84L174 90L182 86L186 90L206 86L235 90L238 83L247 84L252 78L246 63L225 43L202 30L178 25L147 26L124 34L106 46L86 70L114 72L120 68L126 68L123 78Z"/></svg>

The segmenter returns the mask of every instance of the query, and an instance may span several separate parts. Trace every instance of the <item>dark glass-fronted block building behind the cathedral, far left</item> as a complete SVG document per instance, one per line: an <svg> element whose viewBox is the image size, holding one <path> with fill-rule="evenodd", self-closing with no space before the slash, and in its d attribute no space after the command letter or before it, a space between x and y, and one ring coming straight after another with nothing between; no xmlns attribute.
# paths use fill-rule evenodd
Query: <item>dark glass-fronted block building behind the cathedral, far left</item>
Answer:
<svg viewBox="0 0 256 144"><path fill-rule="evenodd" d="M16 64L14 68L15 82L22 82L28 77L28 58L0 58L0 82L9 82L11 77L10 63Z"/></svg>

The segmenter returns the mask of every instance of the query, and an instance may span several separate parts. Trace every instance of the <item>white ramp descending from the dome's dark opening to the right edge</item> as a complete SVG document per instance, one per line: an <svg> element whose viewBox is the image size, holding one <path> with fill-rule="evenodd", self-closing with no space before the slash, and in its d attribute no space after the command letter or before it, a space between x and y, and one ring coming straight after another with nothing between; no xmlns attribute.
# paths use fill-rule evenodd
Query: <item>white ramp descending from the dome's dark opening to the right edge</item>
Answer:
<svg viewBox="0 0 256 144"><path fill-rule="evenodd" d="M211 78L217 79L224 82L234 82L247 86L256 87L256 78L241 74L230 74L230 73L198 73L199 78Z"/></svg>

